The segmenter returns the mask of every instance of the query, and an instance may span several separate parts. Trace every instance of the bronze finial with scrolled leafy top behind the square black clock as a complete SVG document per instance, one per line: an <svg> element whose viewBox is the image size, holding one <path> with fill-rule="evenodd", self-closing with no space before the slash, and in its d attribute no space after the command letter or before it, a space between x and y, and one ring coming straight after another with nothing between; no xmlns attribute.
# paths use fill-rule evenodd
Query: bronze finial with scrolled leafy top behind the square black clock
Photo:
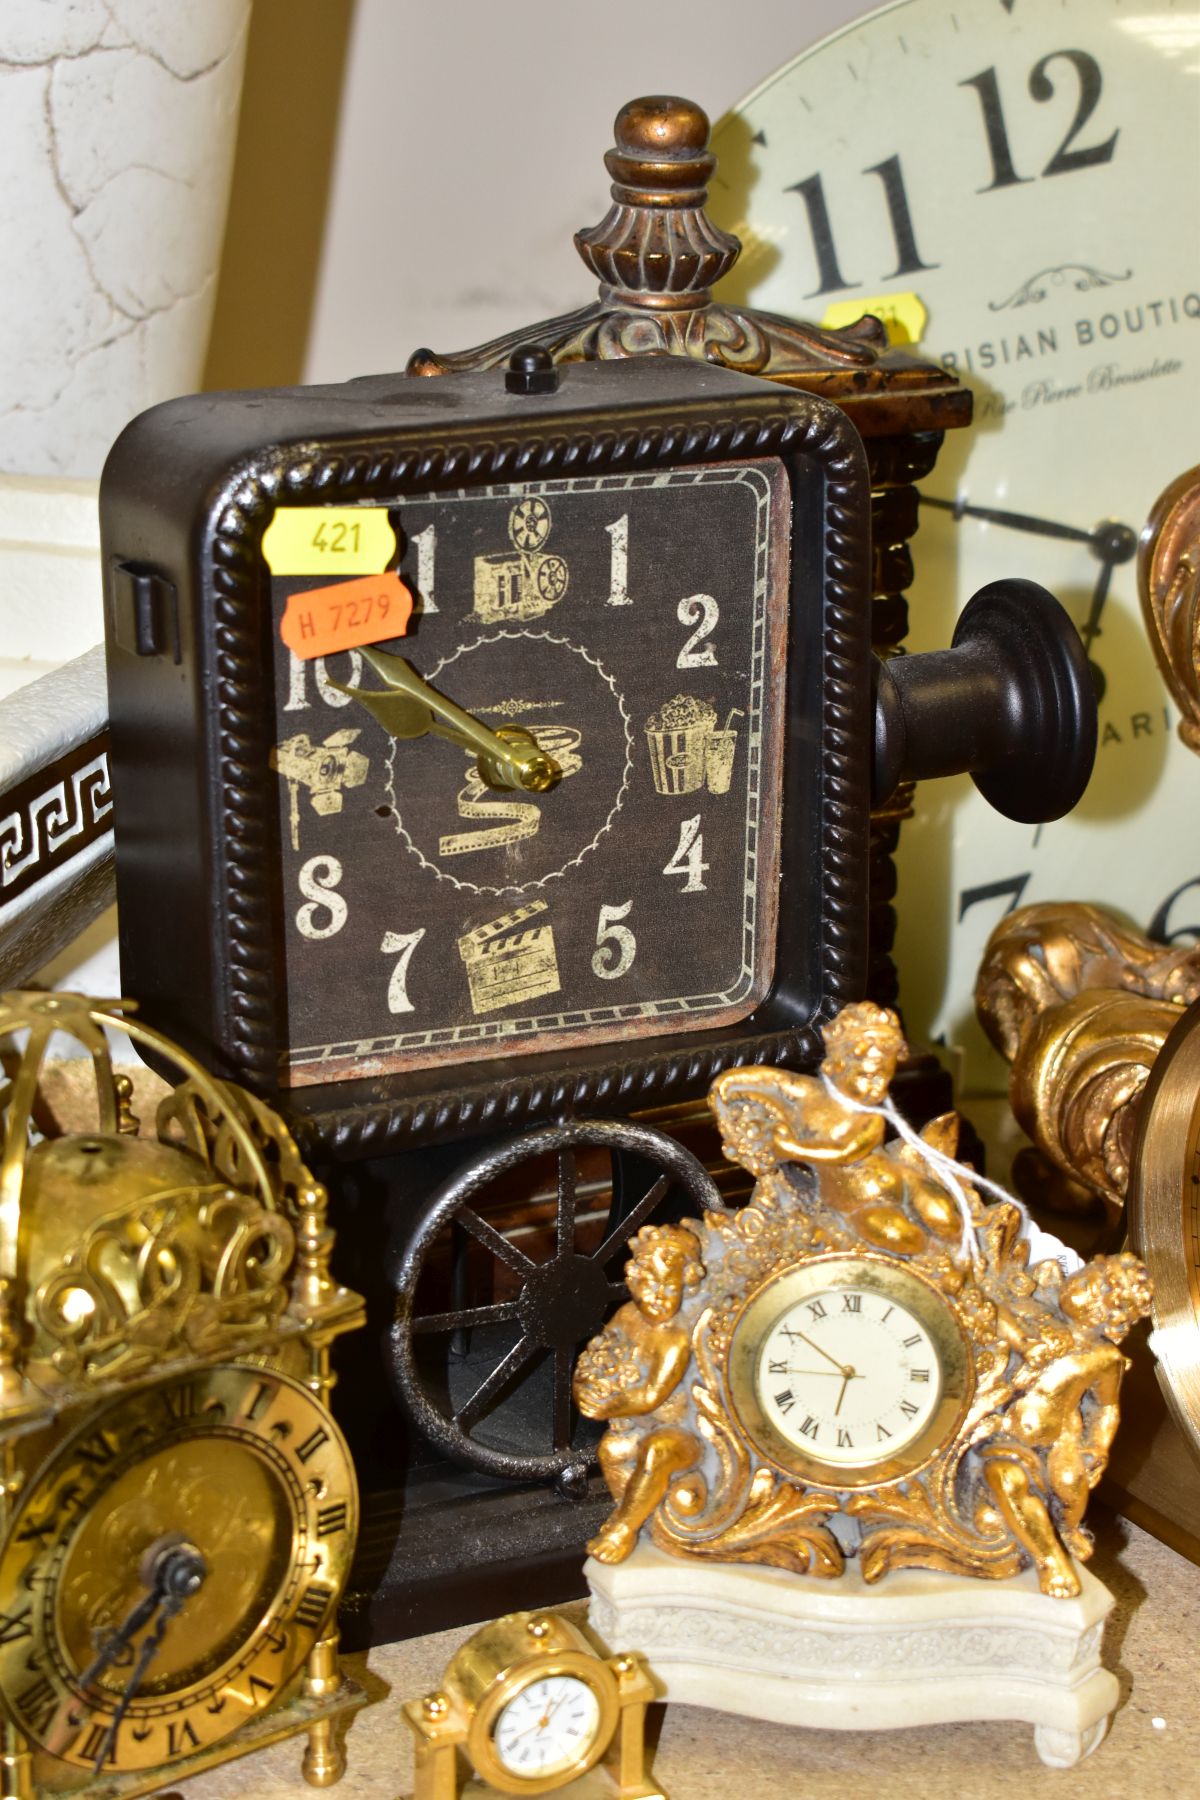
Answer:
<svg viewBox="0 0 1200 1800"><path fill-rule="evenodd" d="M518 347L545 349L554 362L694 356L824 394L867 437L968 423L970 391L945 369L892 349L871 315L826 331L712 299L741 245L705 212L716 157L702 106L646 95L621 108L613 135L604 155L613 203L599 225L576 232L599 299L475 349L414 351L408 374L497 369Z"/></svg>

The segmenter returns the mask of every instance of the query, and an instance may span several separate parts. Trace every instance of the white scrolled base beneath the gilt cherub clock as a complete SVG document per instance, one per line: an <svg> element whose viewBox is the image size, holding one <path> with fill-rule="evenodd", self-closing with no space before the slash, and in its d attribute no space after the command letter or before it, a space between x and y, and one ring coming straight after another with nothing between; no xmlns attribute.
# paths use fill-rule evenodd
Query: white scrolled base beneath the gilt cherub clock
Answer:
<svg viewBox="0 0 1200 1800"><path fill-rule="evenodd" d="M1099 1661L1112 1595L1087 1570L1076 1600L1040 1593L1033 1570L900 1570L867 1588L853 1562L813 1580L644 1543L615 1566L588 1557L585 1573L597 1636L640 1651L662 1697L689 1706L838 1732L1022 1719L1042 1760L1070 1768L1119 1697Z"/></svg>

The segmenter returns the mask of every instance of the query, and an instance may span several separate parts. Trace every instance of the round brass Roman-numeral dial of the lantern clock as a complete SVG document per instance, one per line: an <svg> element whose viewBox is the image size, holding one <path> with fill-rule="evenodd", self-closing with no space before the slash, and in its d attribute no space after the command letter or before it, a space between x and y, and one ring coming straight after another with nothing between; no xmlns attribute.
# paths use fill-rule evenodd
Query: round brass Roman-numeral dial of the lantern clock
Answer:
<svg viewBox="0 0 1200 1800"><path fill-rule="evenodd" d="M218 1364L113 1400L22 1490L0 1559L9 1712L74 1768L203 1751L293 1678L354 1526L349 1451L299 1382Z"/></svg>

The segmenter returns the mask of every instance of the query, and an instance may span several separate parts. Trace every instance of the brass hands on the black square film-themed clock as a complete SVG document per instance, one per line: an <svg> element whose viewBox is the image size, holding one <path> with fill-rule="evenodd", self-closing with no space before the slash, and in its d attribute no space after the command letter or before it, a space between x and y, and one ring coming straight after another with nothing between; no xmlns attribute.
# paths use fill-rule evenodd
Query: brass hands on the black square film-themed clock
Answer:
<svg viewBox="0 0 1200 1800"><path fill-rule="evenodd" d="M500 731L491 731L473 713L430 688L403 657L390 657L383 650L362 653L387 688L383 691L344 688L340 682L329 686L365 706L392 738L432 734L473 751L480 779L493 788L545 794L561 781L561 767L524 725L502 725Z"/></svg>

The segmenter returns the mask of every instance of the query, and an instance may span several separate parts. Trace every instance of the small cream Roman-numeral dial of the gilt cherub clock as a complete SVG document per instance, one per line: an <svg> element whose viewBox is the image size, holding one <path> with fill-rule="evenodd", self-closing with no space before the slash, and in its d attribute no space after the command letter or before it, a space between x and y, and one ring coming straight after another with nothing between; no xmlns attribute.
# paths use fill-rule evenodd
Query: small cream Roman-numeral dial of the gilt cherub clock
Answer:
<svg viewBox="0 0 1200 1800"><path fill-rule="evenodd" d="M937 1346L891 1294L824 1289L779 1314L763 1339L757 1390L775 1431L819 1462L885 1460L937 1411Z"/></svg>

